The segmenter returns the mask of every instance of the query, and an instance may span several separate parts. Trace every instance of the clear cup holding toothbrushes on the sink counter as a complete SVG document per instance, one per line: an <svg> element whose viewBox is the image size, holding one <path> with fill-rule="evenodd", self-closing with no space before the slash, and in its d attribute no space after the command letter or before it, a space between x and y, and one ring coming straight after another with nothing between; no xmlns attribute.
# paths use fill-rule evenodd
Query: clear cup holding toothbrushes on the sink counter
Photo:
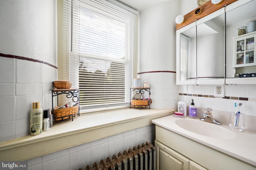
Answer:
<svg viewBox="0 0 256 170"><path fill-rule="evenodd" d="M232 130L243 131L244 130L244 113L235 113L230 111L229 113L229 127Z"/></svg>

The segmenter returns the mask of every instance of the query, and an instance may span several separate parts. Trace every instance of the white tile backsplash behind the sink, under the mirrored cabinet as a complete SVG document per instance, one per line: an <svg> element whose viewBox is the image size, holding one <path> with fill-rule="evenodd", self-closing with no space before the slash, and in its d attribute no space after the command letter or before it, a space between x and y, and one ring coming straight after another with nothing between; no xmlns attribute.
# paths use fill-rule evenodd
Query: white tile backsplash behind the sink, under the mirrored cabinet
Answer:
<svg viewBox="0 0 256 170"><path fill-rule="evenodd" d="M240 111L246 115L256 116L256 85L255 84L237 84L237 85L225 85L225 96L236 98L248 98L246 100L233 100L224 98L206 98L206 97L194 97L184 96L184 101L187 106L191 104L191 99L194 99L194 103L197 107L211 107L214 110L219 111L235 111L234 103L242 103ZM200 95L212 95L214 94L213 85L204 86L192 86L192 85L180 85L178 91L180 94L200 94ZM179 100L181 96L179 96Z"/></svg>

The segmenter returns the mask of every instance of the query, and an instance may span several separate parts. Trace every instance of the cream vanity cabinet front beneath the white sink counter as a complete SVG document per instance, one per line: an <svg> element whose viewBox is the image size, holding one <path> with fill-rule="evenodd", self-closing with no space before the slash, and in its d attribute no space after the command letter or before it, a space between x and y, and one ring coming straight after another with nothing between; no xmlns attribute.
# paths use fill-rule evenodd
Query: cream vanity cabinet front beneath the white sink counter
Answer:
<svg viewBox="0 0 256 170"><path fill-rule="evenodd" d="M158 170L255 170L256 168L204 144L156 125Z"/></svg>

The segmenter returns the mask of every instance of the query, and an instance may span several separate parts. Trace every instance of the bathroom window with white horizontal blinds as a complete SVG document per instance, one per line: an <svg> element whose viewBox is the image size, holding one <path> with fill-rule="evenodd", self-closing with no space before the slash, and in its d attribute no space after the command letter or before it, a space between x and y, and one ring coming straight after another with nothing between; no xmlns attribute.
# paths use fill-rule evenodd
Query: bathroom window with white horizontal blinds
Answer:
<svg viewBox="0 0 256 170"><path fill-rule="evenodd" d="M137 12L109 1L64 0L64 74L80 89L81 107L130 102L137 21Z"/></svg>

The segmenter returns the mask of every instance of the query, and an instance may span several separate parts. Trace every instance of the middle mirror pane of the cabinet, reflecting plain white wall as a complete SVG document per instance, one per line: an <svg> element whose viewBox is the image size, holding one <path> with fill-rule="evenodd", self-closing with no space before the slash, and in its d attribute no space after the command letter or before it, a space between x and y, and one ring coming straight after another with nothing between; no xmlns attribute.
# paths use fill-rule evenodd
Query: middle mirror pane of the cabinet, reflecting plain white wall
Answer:
<svg viewBox="0 0 256 170"><path fill-rule="evenodd" d="M198 24L196 31L197 80L224 79L225 14Z"/></svg>

